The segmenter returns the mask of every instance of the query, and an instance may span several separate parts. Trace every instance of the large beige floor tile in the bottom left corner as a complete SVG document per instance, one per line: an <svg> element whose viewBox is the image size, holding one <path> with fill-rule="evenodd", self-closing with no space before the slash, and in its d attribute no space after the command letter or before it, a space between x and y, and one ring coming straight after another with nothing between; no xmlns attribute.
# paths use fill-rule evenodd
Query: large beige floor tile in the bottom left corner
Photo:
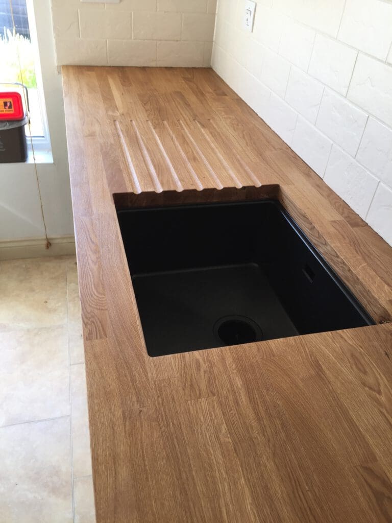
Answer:
<svg viewBox="0 0 392 523"><path fill-rule="evenodd" d="M0 428L0 520L71 523L70 419Z"/></svg>

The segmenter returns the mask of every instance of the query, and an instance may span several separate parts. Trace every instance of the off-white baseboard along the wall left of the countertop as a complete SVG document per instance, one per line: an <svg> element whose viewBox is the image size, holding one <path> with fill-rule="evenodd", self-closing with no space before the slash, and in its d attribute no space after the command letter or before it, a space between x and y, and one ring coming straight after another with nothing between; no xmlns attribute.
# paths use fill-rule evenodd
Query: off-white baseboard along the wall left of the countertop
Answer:
<svg viewBox="0 0 392 523"><path fill-rule="evenodd" d="M75 254L74 236L49 238L52 244L45 248L45 238L23 238L22 240L0 240L0 260L19 258L43 258Z"/></svg>

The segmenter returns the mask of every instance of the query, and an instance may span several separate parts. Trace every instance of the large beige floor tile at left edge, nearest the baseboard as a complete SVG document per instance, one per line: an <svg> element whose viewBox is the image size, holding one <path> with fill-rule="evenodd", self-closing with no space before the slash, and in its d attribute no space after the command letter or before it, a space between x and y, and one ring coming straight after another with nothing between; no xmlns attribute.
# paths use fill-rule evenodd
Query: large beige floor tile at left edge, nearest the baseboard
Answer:
<svg viewBox="0 0 392 523"><path fill-rule="evenodd" d="M66 263L63 258L0 262L0 329L66 324Z"/></svg>

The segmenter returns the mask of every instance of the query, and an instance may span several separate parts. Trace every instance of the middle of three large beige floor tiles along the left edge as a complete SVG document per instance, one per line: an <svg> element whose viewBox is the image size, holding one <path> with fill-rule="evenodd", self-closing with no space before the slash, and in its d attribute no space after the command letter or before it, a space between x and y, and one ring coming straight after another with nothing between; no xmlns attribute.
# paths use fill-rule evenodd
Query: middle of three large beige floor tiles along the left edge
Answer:
<svg viewBox="0 0 392 523"><path fill-rule="evenodd" d="M0 332L0 426L70 414L67 327Z"/></svg>

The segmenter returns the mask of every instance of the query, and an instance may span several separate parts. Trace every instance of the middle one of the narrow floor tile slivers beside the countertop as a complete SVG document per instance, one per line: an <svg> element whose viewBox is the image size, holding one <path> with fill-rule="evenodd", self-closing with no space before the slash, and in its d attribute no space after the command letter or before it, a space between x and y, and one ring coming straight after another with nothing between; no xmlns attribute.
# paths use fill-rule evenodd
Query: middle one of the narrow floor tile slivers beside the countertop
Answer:
<svg viewBox="0 0 392 523"><path fill-rule="evenodd" d="M84 363L71 366L71 408L74 477L88 476L91 454Z"/></svg>

